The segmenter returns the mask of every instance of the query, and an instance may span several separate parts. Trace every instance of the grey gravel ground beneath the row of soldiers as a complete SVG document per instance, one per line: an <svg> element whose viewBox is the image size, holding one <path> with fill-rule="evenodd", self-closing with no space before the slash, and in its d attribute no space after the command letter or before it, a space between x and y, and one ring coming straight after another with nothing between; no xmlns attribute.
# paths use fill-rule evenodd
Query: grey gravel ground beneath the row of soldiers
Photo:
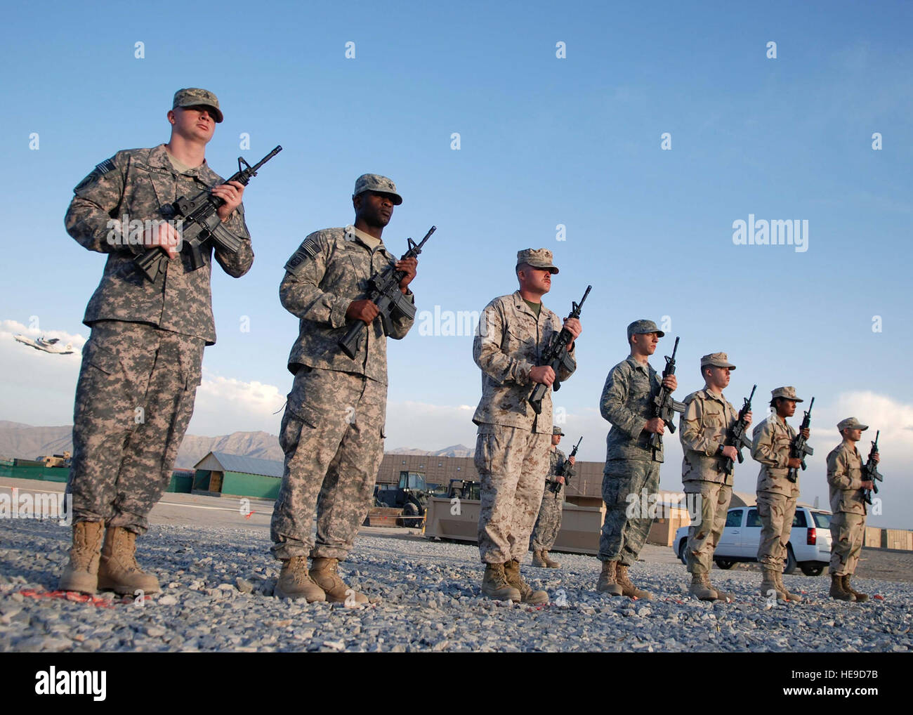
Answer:
<svg viewBox="0 0 913 715"><path fill-rule="evenodd" d="M714 570L732 604L687 595L680 563L637 563L652 602L594 591L593 557L523 573L546 589L540 608L479 595L474 546L410 536L360 536L341 573L372 603L359 608L279 601L268 537L230 528L153 525L139 559L163 584L142 605L47 597L66 563L69 530L4 520L0 531L0 651L896 651L913 649L913 584L857 579L882 598L844 604L830 580L786 576L798 605L767 605L757 573Z"/></svg>

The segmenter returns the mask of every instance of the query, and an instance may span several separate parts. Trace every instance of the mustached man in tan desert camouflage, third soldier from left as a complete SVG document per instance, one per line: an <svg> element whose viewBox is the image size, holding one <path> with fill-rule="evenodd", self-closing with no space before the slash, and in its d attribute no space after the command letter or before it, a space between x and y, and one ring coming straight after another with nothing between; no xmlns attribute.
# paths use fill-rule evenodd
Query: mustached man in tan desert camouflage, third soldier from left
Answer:
<svg viewBox="0 0 913 715"><path fill-rule="evenodd" d="M542 475L549 465L552 435L551 390L536 414L528 402L536 384L551 387L556 375L540 366L551 336L561 331L561 319L542 304L558 273L551 251L527 248L517 253L519 290L500 296L485 307L473 341L473 359L482 371L482 397L472 421L478 426L475 464L481 479L478 550L485 575L482 593L497 600L541 605L549 600L520 575L529 549L530 531L542 499ZM574 339L580 321L564 321ZM568 346L571 364L574 343ZM562 367L563 381L573 370Z"/></svg>

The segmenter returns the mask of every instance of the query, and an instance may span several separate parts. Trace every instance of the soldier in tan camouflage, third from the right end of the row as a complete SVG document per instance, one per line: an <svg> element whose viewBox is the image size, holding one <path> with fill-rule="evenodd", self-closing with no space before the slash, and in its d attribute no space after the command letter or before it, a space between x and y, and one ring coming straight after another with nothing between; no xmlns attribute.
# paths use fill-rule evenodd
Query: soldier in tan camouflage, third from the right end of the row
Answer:
<svg viewBox="0 0 913 715"><path fill-rule="evenodd" d="M727 433L739 414L723 396L729 386L729 363L725 352L712 352L700 359L704 388L685 398L685 413L679 422L682 483L691 507L691 526L687 532L687 570L691 574L688 593L702 601L729 601L732 594L710 584L713 551L726 523L732 497L733 468L725 469L738 457L736 447L726 445ZM745 415L751 424L751 413ZM730 461L728 461L730 460Z"/></svg>

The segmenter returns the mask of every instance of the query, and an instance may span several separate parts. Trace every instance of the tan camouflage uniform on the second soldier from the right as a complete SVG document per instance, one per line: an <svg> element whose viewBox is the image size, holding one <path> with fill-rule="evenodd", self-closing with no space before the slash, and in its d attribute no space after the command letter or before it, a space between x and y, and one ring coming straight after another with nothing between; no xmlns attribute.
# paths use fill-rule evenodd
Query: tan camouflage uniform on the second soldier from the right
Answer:
<svg viewBox="0 0 913 715"><path fill-rule="evenodd" d="M751 433L751 457L761 462L758 474L758 516L761 517L761 568L781 573L786 563L792 520L799 499L799 481L786 478L790 444L796 431L780 415L771 414Z"/></svg>

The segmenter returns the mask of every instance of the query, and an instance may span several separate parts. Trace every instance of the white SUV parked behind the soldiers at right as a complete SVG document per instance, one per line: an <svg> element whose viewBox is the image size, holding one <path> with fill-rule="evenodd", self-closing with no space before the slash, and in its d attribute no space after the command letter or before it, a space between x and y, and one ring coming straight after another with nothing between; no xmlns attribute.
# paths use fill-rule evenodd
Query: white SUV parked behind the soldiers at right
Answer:
<svg viewBox="0 0 913 715"><path fill-rule="evenodd" d="M792 520L790 543L786 547L786 567L783 573L792 573L796 566L806 576L820 576L824 566L831 561L831 512L812 507L796 507ZM687 526L676 531L672 549L682 563L686 562ZM713 560L721 569L731 569L740 561L758 561L761 543L761 517L758 508L733 507L726 517L726 525L719 537Z"/></svg>

